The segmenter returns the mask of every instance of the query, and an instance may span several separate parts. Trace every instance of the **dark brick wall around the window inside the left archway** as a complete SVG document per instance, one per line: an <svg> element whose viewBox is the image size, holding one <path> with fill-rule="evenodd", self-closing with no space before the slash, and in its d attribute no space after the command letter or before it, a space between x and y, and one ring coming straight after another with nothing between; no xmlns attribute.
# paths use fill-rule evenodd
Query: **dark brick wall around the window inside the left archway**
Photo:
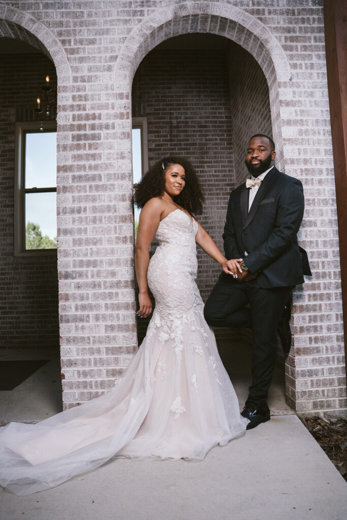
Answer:
<svg viewBox="0 0 347 520"><path fill-rule="evenodd" d="M37 120L37 93L46 74L56 88L55 67L41 54L0 60L0 347L59 348L57 258L14 256L15 122Z"/></svg>

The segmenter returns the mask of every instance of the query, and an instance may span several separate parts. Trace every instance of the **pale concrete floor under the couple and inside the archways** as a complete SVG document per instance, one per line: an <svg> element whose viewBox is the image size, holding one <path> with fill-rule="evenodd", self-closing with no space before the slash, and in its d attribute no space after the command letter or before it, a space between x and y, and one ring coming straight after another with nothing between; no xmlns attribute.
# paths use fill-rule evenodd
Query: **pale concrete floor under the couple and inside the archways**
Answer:
<svg viewBox="0 0 347 520"><path fill-rule="evenodd" d="M221 354L242 407L250 353L221 346ZM0 418L34 421L60 411L58 375L51 361L14 391L0 392ZM28 497L1 490L0 519L345 520L347 483L285 404L283 381L277 369L272 420L202 462L117 459Z"/></svg>

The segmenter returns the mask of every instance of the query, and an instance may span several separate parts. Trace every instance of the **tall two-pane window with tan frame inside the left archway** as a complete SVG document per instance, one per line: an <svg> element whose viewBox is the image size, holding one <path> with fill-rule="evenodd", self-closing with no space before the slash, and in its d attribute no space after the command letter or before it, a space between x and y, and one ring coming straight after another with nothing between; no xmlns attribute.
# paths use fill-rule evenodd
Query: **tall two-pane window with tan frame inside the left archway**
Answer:
<svg viewBox="0 0 347 520"><path fill-rule="evenodd" d="M15 255L56 254L57 125L16 123Z"/></svg>

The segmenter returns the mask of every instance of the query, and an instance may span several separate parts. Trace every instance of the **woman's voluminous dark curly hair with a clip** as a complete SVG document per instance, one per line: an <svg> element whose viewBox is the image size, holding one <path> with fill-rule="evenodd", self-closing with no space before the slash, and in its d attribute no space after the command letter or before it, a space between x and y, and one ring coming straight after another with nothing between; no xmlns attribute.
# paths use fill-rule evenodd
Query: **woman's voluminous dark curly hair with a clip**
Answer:
<svg viewBox="0 0 347 520"><path fill-rule="evenodd" d="M134 186L134 202L142 208L149 199L162 197L165 191L165 172L173 164L180 164L186 174L184 189L175 197L175 203L184 207L190 214L202 212L204 196L194 168L182 157L164 157L156 162ZM163 168L164 166L164 168Z"/></svg>

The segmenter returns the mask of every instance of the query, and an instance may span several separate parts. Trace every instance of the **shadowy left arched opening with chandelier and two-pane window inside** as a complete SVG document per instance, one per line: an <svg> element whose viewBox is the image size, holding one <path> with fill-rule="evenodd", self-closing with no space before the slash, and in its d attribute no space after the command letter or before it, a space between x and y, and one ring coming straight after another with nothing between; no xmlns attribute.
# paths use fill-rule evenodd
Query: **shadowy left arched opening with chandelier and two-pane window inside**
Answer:
<svg viewBox="0 0 347 520"><path fill-rule="evenodd" d="M30 422L61 410L57 102L48 116L35 111L38 95L46 107L41 87L47 75L56 92L57 72L32 33L8 20L0 20L0 31L0 417Z"/></svg>

